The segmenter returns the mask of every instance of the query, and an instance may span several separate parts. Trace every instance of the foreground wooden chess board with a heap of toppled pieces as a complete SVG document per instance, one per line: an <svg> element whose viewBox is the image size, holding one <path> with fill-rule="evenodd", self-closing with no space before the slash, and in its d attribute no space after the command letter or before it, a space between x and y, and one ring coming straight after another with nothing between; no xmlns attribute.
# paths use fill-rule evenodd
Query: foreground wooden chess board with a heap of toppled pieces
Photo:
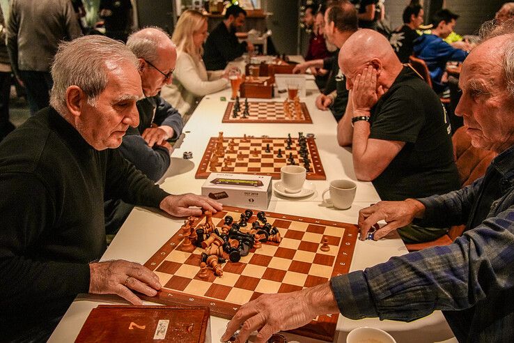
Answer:
<svg viewBox="0 0 514 343"><path fill-rule="evenodd" d="M244 208L224 206L224 211L212 215L217 227L224 224L224 217L240 218ZM330 277L348 273L357 240L357 226L295 215L266 212L267 222L279 230L280 243L263 243L237 263L223 265L223 275L216 277L208 270L207 278L201 279L200 254L203 249L182 252L182 230L173 235L146 262L162 284L157 296L143 296L147 300L171 305L208 306L212 314L231 319L240 305L262 294L286 293L327 282ZM248 220L248 226L257 220ZM205 220L198 218L194 226ZM328 238L330 250L320 250L322 238ZM318 340L334 341L338 314L317 317L311 323L292 330L292 333Z"/></svg>

